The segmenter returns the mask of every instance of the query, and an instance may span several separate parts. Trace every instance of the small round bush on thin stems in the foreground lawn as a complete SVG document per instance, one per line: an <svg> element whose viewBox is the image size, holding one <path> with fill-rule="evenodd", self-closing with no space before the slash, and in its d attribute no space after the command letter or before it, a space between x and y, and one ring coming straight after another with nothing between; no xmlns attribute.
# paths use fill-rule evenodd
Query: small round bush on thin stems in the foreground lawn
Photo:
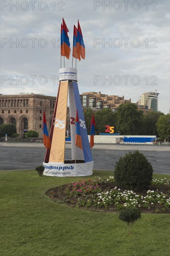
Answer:
<svg viewBox="0 0 170 256"><path fill-rule="evenodd" d="M127 207L119 212L119 220L125 222L128 225L128 233L130 233L129 224L132 224L137 221L137 219L141 218L141 211L135 207Z"/></svg>

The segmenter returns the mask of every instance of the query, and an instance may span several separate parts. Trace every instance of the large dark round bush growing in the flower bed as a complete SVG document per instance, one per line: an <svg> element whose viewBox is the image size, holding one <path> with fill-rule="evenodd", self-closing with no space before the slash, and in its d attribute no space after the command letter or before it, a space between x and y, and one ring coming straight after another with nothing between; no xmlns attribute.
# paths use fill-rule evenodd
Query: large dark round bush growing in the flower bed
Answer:
<svg viewBox="0 0 170 256"><path fill-rule="evenodd" d="M135 151L119 158L114 177L118 187L140 190L150 185L152 173L150 162L143 154Z"/></svg>

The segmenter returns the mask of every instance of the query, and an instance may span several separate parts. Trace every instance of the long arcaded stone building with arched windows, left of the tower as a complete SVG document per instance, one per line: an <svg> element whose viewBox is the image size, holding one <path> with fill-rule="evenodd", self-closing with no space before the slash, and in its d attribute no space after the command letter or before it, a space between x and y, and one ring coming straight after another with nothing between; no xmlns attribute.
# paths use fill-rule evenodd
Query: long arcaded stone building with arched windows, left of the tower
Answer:
<svg viewBox="0 0 170 256"><path fill-rule="evenodd" d="M43 136L43 111L46 114L48 131L50 131L56 97L44 94L21 93L19 95L0 94L0 125L13 123L17 133L23 137L29 130L35 130ZM67 108L67 126L69 129L69 108Z"/></svg>

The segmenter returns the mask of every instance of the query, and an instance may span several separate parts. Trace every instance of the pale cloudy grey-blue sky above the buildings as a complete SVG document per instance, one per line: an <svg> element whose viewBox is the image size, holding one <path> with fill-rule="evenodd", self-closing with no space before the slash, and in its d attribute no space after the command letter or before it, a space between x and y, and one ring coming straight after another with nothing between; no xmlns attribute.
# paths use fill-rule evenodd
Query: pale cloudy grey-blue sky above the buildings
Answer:
<svg viewBox="0 0 170 256"><path fill-rule="evenodd" d="M156 91L158 110L170 111L170 1L1 1L1 94L56 96L60 23L79 20L85 60L77 61L79 93L124 95L137 102ZM63 57L62 57L62 67ZM73 60L75 67L75 59Z"/></svg>

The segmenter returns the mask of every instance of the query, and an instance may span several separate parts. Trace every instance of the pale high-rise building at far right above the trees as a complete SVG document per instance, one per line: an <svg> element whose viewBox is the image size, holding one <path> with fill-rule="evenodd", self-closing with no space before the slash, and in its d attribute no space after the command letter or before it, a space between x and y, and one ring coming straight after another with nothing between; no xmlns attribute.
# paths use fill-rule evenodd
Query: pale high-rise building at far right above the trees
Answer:
<svg viewBox="0 0 170 256"><path fill-rule="evenodd" d="M158 110L158 94L157 92L144 93L138 100L138 106L147 106L148 109L152 109L154 112Z"/></svg>

